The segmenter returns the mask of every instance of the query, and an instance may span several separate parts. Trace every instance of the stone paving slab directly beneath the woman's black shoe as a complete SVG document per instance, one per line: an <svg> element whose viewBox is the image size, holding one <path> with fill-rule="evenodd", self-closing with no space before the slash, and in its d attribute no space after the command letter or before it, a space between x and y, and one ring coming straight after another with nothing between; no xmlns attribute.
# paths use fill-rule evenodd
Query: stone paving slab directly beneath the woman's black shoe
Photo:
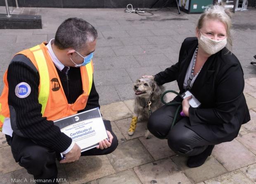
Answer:
<svg viewBox="0 0 256 184"><path fill-rule="evenodd" d="M207 158L206 162L198 168L187 167L187 157L174 156L172 160L176 165L195 183L223 175L228 172L213 156Z"/></svg>

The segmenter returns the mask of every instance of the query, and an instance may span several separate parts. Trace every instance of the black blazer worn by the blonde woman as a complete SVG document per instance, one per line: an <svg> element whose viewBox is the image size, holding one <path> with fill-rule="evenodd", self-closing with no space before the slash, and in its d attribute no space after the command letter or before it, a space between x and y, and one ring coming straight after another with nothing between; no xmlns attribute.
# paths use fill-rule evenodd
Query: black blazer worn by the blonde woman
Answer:
<svg viewBox="0 0 256 184"><path fill-rule="evenodd" d="M196 37L188 37L181 48L179 61L155 75L159 84L177 80L180 94L187 68L198 45ZM201 102L198 108L190 107L188 128L213 143L227 142L237 137L242 123L250 120L244 98L244 73L234 54L224 48L211 55L194 81L192 94ZM182 101L179 96L176 101Z"/></svg>

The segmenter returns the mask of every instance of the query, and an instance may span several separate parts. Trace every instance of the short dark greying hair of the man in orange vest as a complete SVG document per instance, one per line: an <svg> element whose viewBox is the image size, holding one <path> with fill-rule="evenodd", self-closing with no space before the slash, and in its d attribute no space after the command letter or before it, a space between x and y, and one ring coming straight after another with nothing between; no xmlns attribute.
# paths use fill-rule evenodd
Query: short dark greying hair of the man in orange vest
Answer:
<svg viewBox="0 0 256 184"><path fill-rule="evenodd" d="M66 19L57 29L54 44L59 49L81 49L85 43L97 38L97 30L87 21L78 18Z"/></svg>

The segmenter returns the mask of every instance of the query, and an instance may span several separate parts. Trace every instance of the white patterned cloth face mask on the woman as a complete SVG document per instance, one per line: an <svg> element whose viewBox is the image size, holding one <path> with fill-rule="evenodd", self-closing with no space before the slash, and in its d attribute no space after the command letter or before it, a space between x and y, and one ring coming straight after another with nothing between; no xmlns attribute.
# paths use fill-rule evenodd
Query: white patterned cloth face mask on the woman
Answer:
<svg viewBox="0 0 256 184"><path fill-rule="evenodd" d="M201 33L201 36L198 39L198 44L205 53L213 55L226 46L227 37L225 37L223 40L212 40Z"/></svg>

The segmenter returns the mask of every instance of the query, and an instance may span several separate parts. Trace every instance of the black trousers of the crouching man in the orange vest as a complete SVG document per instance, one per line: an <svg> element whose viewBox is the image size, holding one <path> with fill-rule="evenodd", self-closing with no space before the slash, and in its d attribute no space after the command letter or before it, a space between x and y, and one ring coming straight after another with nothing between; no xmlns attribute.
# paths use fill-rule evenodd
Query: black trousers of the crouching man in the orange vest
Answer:
<svg viewBox="0 0 256 184"><path fill-rule="evenodd" d="M93 148L82 152L81 156L106 155L116 149L118 140L111 129L110 121L104 120L104 124L114 137L111 146L107 149ZM21 167L26 168L29 174L34 175L35 179L48 179L47 181L52 179L53 181L57 178L56 158L59 158L59 153L40 146L30 139L19 137L15 133L12 134L12 137L7 137L7 142L11 146L15 161L19 162Z"/></svg>

